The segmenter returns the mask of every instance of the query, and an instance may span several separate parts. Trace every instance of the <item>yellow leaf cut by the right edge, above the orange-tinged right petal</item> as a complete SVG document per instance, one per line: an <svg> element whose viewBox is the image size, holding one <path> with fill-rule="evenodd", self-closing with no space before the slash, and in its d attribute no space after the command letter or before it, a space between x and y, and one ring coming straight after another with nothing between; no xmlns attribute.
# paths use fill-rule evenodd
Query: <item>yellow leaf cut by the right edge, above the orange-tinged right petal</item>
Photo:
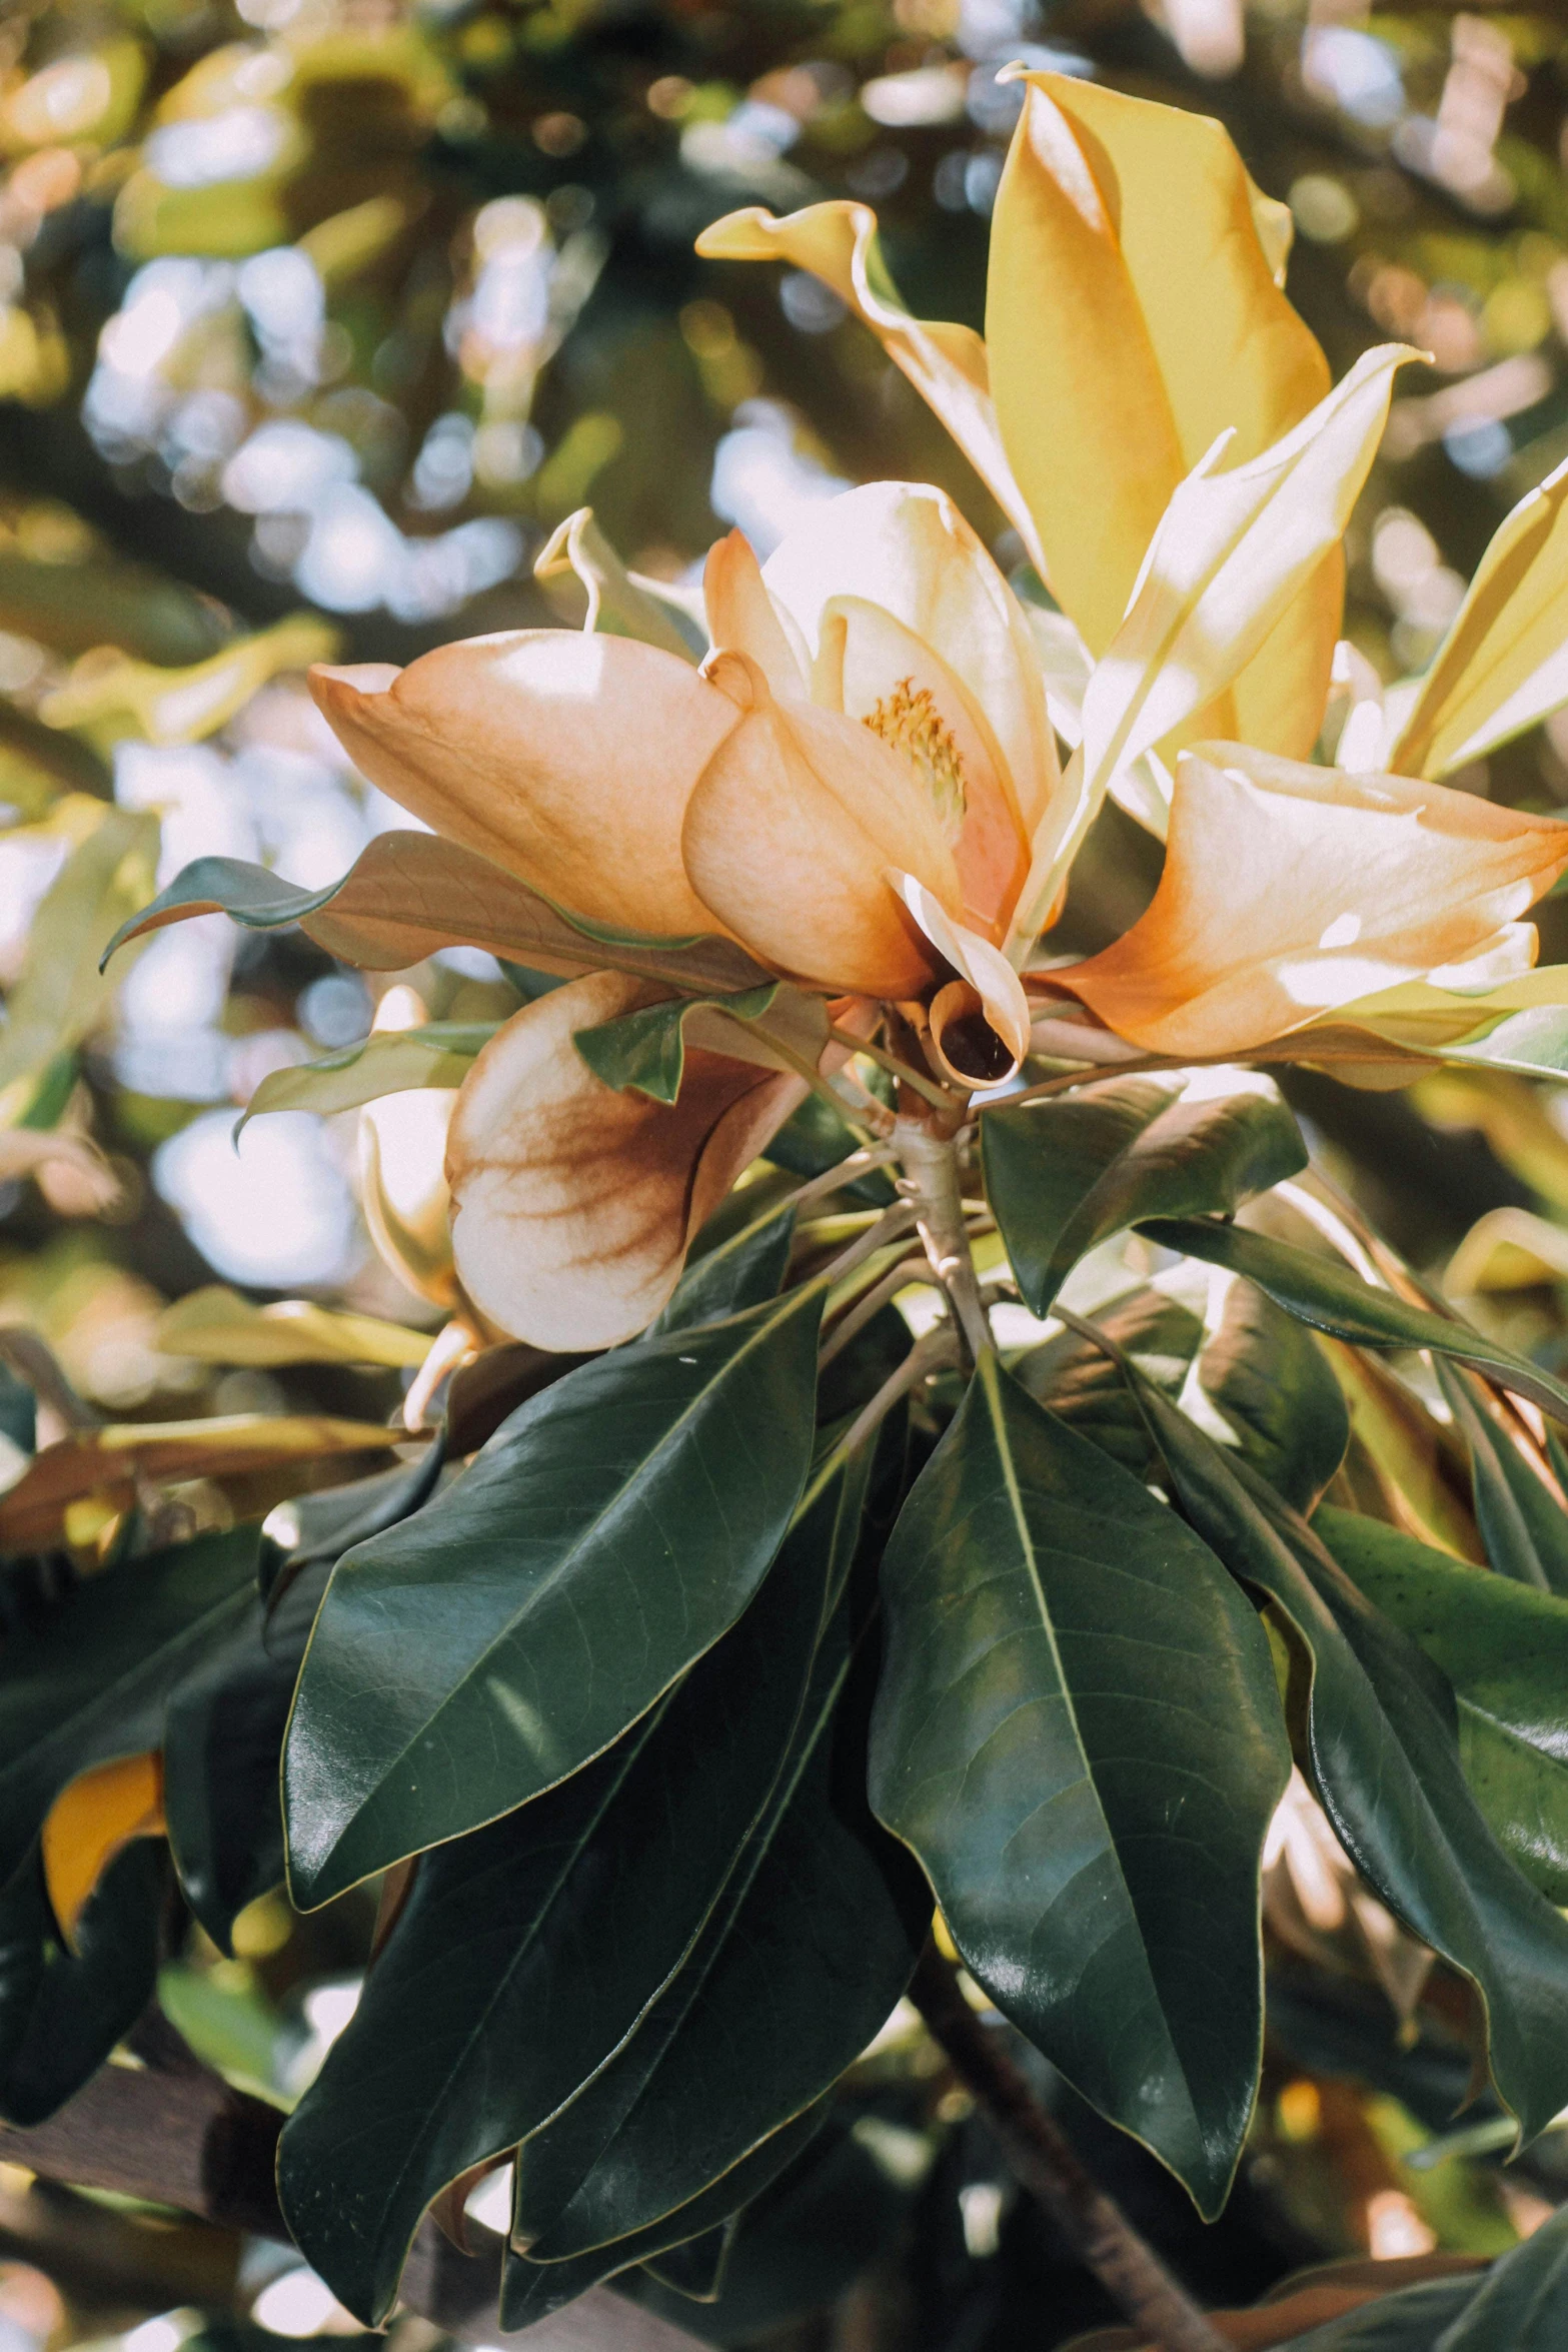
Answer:
<svg viewBox="0 0 1568 2352"><path fill-rule="evenodd" d="M1568 463L1497 527L1389 767L1448 776L1568 701Z"/></svg>

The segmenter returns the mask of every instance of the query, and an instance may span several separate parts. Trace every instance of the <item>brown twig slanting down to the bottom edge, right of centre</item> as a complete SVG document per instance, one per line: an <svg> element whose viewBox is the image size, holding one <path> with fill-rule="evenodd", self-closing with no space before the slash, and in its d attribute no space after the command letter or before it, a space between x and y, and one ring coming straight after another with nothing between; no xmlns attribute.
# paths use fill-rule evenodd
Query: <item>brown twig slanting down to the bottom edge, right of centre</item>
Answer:
<svg viewBox="0 0 1568 2352"><path fill-rule="evenodd" d="M1133 2326L1164 2352L1227 2352L1197 2303L1084 2166L1056 2117L1030 2091L999 2034L990 2032L964 1999L957 1971L931 1943L914 1971L910 1999L964 2086L973 2091L1018 2180L1046 2209Z"/></svg>

